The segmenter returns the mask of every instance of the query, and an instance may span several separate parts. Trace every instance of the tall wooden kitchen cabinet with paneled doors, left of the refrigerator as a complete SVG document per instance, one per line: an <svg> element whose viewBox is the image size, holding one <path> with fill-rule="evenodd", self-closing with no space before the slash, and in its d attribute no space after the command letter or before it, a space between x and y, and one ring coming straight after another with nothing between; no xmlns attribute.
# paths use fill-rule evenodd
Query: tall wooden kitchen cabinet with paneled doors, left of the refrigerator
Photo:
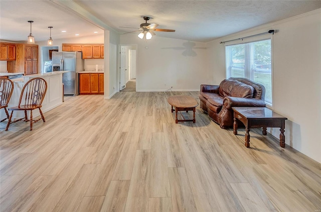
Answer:
<svg viewBox="0 0 321 212"><path fill-rule="evenodd" d="M16 60L7 62L8 72L38 73L38 45L16 44Z"/></svg>

